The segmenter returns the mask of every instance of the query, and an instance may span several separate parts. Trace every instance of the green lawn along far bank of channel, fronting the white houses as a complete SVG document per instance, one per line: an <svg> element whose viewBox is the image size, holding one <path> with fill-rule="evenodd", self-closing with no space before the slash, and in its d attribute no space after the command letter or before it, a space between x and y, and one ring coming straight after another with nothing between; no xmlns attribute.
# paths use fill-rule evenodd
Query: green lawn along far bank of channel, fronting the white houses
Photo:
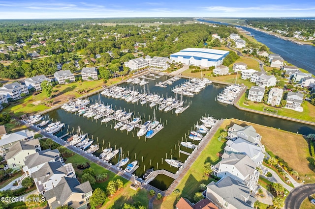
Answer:
<svg viewBox="0 0 315 209"><path fill-rule="evenodd" d="M303 112L298 112L298 111L295 111L292 109L286 109L286 108L271 107L263 103L254 103L251 101L248 101L248 105L245 105L244 104L245 101L246 101L245 94L243 94L238 104L241 107L258 110L258 111L263 111L264 107L268 107L268 108L278 110L278 115L281 115L281 116L315 122L315 106L313 106L312 104L306 101L302 103L302 107L304 110Z"/></svg>

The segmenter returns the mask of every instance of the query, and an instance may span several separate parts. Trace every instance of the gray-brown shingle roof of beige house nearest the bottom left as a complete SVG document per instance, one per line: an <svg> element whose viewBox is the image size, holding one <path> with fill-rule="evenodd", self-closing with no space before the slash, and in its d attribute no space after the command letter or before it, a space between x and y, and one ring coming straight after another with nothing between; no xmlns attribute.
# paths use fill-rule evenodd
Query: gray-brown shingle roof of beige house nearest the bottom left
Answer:
<svg viewBox="0 0 315 209"><path fill-rule="evenodd" d="M58 206L62 206L72 193L86 194L90 191L92 191L92 187L89 182L80 184L76 178L64 177L56 187L46 191L44 195L46 200L56 197L56 200L51 203L51 206L57 208ZM58 204L58 202L60 202L60 204Z"/></svg>

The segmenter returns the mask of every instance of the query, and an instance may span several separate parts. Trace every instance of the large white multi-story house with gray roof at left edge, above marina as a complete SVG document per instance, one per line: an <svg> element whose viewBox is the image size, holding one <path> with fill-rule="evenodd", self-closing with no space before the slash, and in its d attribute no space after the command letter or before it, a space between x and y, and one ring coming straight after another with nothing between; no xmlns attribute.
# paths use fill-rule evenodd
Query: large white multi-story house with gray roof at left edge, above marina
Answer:
<svg viewBox="0 0 315 209"><path fill-rule="evenodd" d="M26 85L22 85L18 82L5 84L0 88L0 94L6 95L6 98L12 100L21 99L21 94L29 94L29 89Z"/></svg>

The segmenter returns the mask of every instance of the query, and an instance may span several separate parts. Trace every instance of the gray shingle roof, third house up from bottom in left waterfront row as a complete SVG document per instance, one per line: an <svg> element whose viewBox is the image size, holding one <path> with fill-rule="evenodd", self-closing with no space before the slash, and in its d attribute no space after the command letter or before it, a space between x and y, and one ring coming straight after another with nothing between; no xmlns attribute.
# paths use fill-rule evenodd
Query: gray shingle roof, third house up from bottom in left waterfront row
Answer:
<svg viewBox="0 0 315 209"><path fill-rule="evenodd" d="M39 151L38 153L34 153L28 157L25 158L25 165L28 166L28 168L35 167L37 165L43 164L45 162L51 161L56 159L55 156L59 156L60 152L58 149L51 150L43 150Z"/></svg>

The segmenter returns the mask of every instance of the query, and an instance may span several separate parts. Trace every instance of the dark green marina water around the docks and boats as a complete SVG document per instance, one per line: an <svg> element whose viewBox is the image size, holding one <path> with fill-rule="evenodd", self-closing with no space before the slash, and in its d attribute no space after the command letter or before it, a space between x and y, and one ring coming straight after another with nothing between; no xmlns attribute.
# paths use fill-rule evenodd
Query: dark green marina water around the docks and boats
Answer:
<svg viewBox="0 0 315 209"><path fill-rule="evenodd" d="M149 83L150 92L158 93L160 95L163 95L163 97L166 97L166 95L168 97L170 96L174 97L175 95L174 93L171 92L171 88L186 80L186 79L178 80L172 86L168 86L167 88L161 88L154 85L156 82L163 81L166 79L167 79L166 77L162 77L157 79L156 81L150 80ZM138 89L140 91L143 90L143 87L140 87L138 85L135 86L132 84L123 84L123 86L130 87L131 89L133 88ZM146 86L146 88L147 87L148 86ZM164 129L159 131L151 139L147 139L147 141L145 141L144 136L140 138L136 137L136 131L133 132L130 131L127 134L126 131L122 132L120 130L116 131L114 129L111 129L111 127L113 128L115 126L115 121L107 123L106 127L105 124L101 125L100 119L96 123L94 119L93 120L91 118L87 119L84 118L83 116L67 113L63 109L54 110L48 113L46 117L49 116L50 118L53 118L54 121L61 120L62 122L65 123L66 128L62 132L59 132L58 136L61 136L64 133L66 133L68 126L69 131L72 131L73 129L76 130L78 126L80 126L83 132L89 133L90 138L92 138L93 135L94 144L97 143L98 139L98 143L101 148L97 151L97 153L95 153L96 156L98 156L101 153L101 150L105 149L106 147L109 146L113 148L115 146L117 148L122 147L123 152L126 156L129 153L130 161L133 161L134 159L139 160L140 167L135 171L135 174L137 176L141 176L145 172L145 170L150 167L154 167L155 170L165 169L175 173L177 169L174 167L170 167L164 161L166 155L167 158L170 158L172 155L172 158L179 159L182 161L186 160L187 156L184 154L181 154L179 157L178 150L179 141L181 141L182 138L184 138L184 141L186 141L185 133L188 133L189 130L191 130L191 127L193 127L194 124L196 124L197 121L199 121L199 118L201 118L201 116L205 114L213 115L213 117L215 117L216 119L237 118L252 123L280 128L286 131L292 132L298 131L299 133L303 134L315 133L314 126L308 126L296 122L241 111L238 110L233 105L220 104L215 101L215 98L222 91L223 88L224 85L211 84L193 98L184 96L183 100L187 101L187 103L191 101L191 105L186 111L179 115L176 115L175 113L172 114L172 112L159 111L157 105L155 107L156 117L158 120L160 119L161 122L164 123ZM97 99L98 95L90 97L90 100L93 101L92 103L95 103L95 100ZM112 104L114 109L119 108L125 109L126 111L134 112L134 116L136 117L141 116L142 124L143 121L149 120L149 117L150 119L152 119L153 109L150 108L149 105L147 104L144 105L141 105L140 103L130 104L126 103L124 100L116 100L103 96L100 96L100 99L104 104ZM197 144L198 142L194 143ZM182 150L185 150L189 153L191 153L192 151L188 148L182 148ZM118 158L116 159L114 158L112 160L112 163L116 162L118 162ZM156 186L161 185L158 187L164 189L164 184L168 186L171 182L172 179L160 176L156 179L156 181L152 183Z"/></svg>

